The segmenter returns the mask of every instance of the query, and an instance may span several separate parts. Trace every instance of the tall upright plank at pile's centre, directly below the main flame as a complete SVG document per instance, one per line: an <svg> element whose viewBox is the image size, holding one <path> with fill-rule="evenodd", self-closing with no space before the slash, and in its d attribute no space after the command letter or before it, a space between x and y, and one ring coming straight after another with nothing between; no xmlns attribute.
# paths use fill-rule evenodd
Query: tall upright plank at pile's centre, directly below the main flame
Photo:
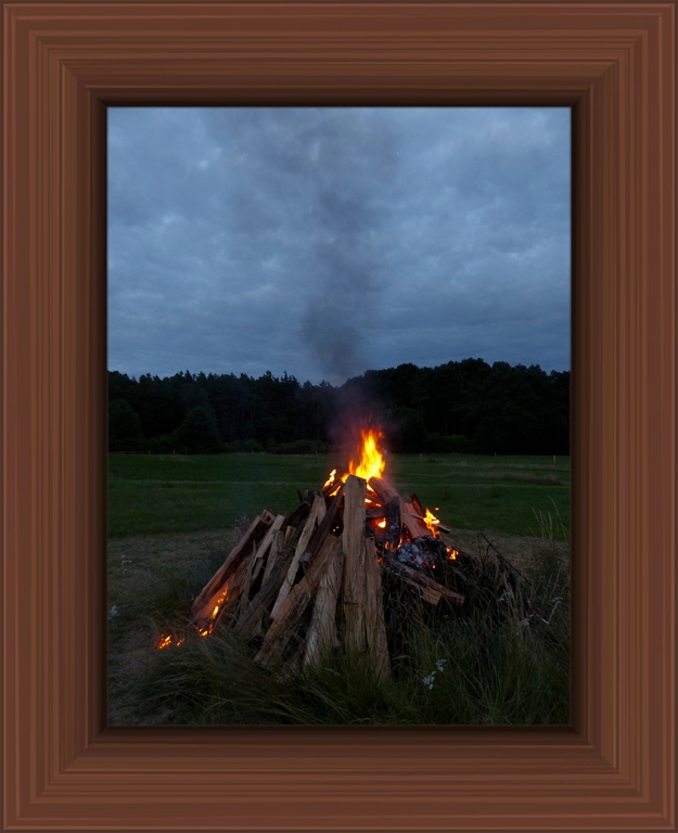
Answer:
<svg viewBox="0 0 678 833"><path fill-rule="evenodd" d="M364 648L364 496L367 483L350 474L344 484L344 619L349 650Z"/></svg>

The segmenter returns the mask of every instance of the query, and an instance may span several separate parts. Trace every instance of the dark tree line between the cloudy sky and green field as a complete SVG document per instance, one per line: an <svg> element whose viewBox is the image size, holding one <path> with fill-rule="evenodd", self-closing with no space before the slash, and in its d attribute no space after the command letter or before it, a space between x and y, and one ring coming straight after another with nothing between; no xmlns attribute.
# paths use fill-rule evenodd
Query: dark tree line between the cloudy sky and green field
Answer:
<svg viewBox="0 0 678 833"><path fill-rule="evenodd" d="M342 412L369 412L396 452L570 453L570 371L483 359L370 370L340 386L270 371L108 372L117 452L327 451Z"/></svg>

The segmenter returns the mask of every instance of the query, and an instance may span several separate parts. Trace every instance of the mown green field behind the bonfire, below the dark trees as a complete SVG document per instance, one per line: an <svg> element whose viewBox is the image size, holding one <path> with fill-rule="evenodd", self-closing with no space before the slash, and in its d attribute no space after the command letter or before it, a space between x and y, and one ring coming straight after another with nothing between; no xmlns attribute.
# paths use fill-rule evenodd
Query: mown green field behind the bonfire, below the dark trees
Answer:
<svg viewBox="0 0 678 833"><path fill-rule="evenodd" d="M263 509L292 512L297 490L319 488L335 465L331 456L111 454L108 534L225 529ZM535 536L536 513L570 528L566 457L400 454L388 458L386 474L458 529Z"/></svg>

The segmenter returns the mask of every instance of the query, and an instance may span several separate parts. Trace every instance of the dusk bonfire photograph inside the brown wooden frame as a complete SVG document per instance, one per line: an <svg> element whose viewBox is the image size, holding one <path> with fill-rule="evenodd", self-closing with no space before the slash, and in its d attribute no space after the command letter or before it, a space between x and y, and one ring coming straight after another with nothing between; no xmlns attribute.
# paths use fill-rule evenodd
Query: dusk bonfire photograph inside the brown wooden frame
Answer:
<svg viewBox="0 0 678 833"><path fill-rule="evenodd" d="M568 725L571 108L106 121L108 725Z"/></svg>

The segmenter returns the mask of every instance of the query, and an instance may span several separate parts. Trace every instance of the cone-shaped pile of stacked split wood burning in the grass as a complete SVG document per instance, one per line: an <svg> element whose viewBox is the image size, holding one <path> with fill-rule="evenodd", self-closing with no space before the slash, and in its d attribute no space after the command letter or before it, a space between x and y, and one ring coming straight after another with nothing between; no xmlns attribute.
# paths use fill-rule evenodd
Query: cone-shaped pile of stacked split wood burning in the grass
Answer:
<svg viewBox="0 0 678 833"><path fill-rule="evenodd" d="M348 475L299 495L290 515L261 512L193 603L192 624L208 636L219 623L258 637L255 662L317 664L344 644L367 652L382 677L391 671L382 577L388 574L421 601L457 607L450 567L464 578L470 559L439 530L417 496L400 498L386 480ZM434 526L435 523L435 526ZM466 574L468 574L466 565Z"/></svg>

